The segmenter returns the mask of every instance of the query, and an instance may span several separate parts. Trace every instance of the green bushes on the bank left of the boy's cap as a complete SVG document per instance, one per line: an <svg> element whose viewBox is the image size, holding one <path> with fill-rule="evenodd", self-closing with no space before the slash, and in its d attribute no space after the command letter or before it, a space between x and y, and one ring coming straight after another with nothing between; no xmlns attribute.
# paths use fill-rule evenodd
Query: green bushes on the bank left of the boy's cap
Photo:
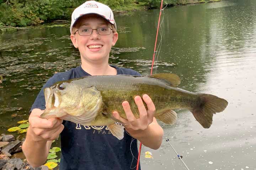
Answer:
<svg viewBox="0 0 256 170"><path fill-rule="evenodd" d="M44 21L69 18L71 0L12 0L0 4L0 20L6 26L31 26Z"/></svg>

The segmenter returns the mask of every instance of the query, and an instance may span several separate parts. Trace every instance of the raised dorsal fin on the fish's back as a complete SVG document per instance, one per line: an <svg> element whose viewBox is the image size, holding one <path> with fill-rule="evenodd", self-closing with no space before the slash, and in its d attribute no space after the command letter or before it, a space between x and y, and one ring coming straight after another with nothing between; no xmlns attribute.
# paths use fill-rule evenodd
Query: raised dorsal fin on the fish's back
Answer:
<svg viewBox="0 0 256 170"><path fill-rule="evenodd" d="M178 75L172 73L158 73L148 75L148 77L164 80L168 85L172 87L177 87L180 84L180 78L178 77Z"/></svg>

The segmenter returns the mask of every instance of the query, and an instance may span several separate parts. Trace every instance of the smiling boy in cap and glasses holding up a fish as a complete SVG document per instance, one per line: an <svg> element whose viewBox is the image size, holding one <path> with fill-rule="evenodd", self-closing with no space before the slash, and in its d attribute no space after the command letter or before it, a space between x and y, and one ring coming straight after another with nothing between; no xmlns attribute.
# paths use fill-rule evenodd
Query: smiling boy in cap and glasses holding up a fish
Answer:
<svg viewBox="0 0 256 170"><path fill-rule="evenodd" d="M57 81L88 75L140 75L132 69L108 65L111 46L118 39L113 12L108 6L87 1L76 8L71 17L70 38L75 48L79 49L81 66L53 75L43 86L31 108L30 127L22 146L23 152L32 166L40 166L47 159L52 141L60 134L60 170L135 168L137 162L133 155L138 157L138 148L137 141L132 142L133 137L153 149L158 149L162 142L163 130L153 117L155 106L148 95L143 95L143 100L140 96L134 98L140 113L139 119L134 117L127 101L122 103L127 119L113 112L116 119L126 124L122 140L110 134L106 126L82 126L58 118L39 118L45 109L43 89Z"/></svg>

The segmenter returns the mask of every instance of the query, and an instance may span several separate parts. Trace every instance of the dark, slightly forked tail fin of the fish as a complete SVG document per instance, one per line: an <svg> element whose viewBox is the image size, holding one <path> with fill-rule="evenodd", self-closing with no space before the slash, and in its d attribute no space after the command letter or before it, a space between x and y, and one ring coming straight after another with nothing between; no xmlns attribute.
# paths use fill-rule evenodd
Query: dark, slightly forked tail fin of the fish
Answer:
<svg viewBox="0 0 256 170"><path fill-rule="evenodd" d="M201 98L200 104L191 112L203 128L210 128L213 114L224 111L228 102L223 98L209 94L199 94L199 97Z"/></svg>

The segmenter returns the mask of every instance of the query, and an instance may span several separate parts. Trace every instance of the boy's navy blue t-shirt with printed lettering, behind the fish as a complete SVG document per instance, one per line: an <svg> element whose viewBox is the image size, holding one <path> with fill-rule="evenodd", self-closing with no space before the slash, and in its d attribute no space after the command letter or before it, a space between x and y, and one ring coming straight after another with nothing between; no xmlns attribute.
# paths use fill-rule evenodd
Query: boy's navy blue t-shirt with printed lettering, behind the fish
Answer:
<svg viewBox="0 0 256 170"><path fill-rule="evenodd" d="M140 75L138 72L111 66L117 74ZM57 81L88 76L81 66L51 77L39 92L34 108L45 109L43 89ZM136 169L138 158L137 140L124 131L124 138L118 140L107 126L83 126L70 121L63 121L61 132L62 157L60 170L130 170ZM133 155L134 158L133 159Z"/></svg>

